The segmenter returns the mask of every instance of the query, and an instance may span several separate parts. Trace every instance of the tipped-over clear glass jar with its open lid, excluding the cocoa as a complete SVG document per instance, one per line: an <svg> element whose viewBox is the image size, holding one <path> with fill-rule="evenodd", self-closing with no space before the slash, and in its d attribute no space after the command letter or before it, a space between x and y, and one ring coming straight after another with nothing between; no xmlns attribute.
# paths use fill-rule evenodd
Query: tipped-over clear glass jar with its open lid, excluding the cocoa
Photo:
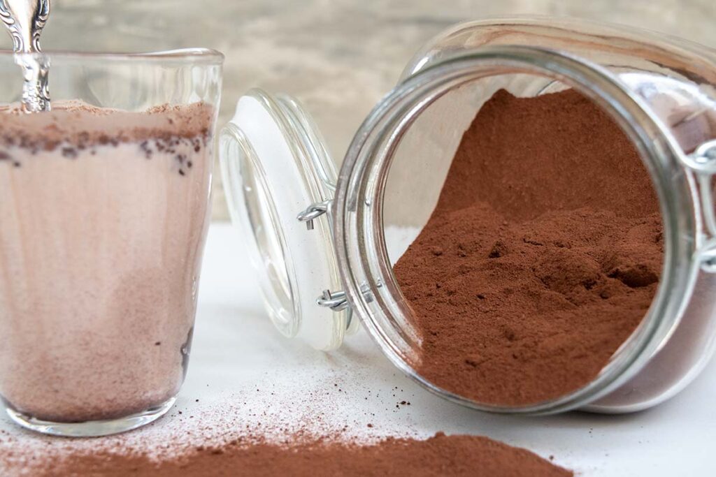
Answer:
<svg viewBox="0 0 716 477"><path fill-rule="evenodd" d="M662 214L661 280L642 323L594 380L536 404L478 403L415 370L420 336L392 264L425 225L481 104L498 89L532 97L565 87L604 109L642 157ZM532 414L648 408L684 388L713 353L716 51L705 46L566 19L460 24L415 55L355 134L339 174L304 109L258 90L239 100L220 157L232 219L256 239L271 319L315 348L337 348L359 320L428 390Z"/></svg>

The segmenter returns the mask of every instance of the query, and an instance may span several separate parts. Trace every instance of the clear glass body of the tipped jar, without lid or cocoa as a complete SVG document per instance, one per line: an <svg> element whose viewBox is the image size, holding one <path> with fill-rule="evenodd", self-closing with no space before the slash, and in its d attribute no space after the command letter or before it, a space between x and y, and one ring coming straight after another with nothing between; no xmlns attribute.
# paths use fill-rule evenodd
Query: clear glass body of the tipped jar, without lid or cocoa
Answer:
<svg viewBox="0 0 716 477"><path fill-rule="evenodd" d="M705 243L705 231L700 228L700 203L692 200L695 180L688 168L682 166L682 159L715 135L712 115L716 109L712 96L707 94L713 86L693 82L690 78L694 72L679 70L669 74L663 63L651 63L657 71L649 72L644 65L652 59L643 51L639 51L642 56L631 56L634 49L624 48L623 38L607 41L599 36L607 50L599 51L596 36L590 42L588 34L575 33L590 45L591 60L604 62L597 66L589 62L590 58L583 62L581 56L571 57L571 51L564 48L567 39L571 39L569 31L540 22L505 23L458 26L453 30L458 34L438 37L427 46L427 53L416 56L406 69L410 74L404 82L374 110L357 134L361 141L352 144L342 170L341 178L346 183L339 183L339 204L343 206L338 207L343 212L343 215L339 212L339 220L343 222L337 235L345 240L339 245L339 257L345 260L342 270L350 270L347 275L351 275L344 275L344 280L372 284L374 296L369 302L361 298L364 293L352 295L359 302L361 313L369 318L364 321L368 322L367 328L395 364L440 395L474 407L505 412L545 413L586 405L591 410L606 412L649 407L682 388L712 354L712 300L690 302L697 273L700 274L697 287L708 286L704 283L710 275L699 272L698 255L710 245ZM610 31L617 34L614 29ZM463 43L453 41L455 37L460 37ZM537 44L566 51L510 51L512 46L506 49L495 46L490 51L492 43L485 39L495 44ZM614 54L611 46L619 45L619 39L622 48L619 54ZM678 59L672 58L672 62L678 63ZM576 64L569 64L573 61ZM702 58L693 64L702 74L711 71ZM539 76L534 76L535 73ZM531 97L556 92L565 85L579 89L614 116L637 144L652 174L667 237L659 292L632 338L613 355L600 375L581 390L557 400L518 408L465 400L436 388L434 383L417 375L412 365L406 365L416 362L420 337L390 265L425 225L450 167L449 159L485 100L500 88ZM615 86L621 89L619 94L609 91ZM347 194L342 196L344 190ZM395 225L401 226L397 232L391 227ZM385 235L384 228L388 231ZM359 238L351 240L352 236ZM376 252L383 247L387 253ZM351 286L347 288L350 290ZM687 303L690 305L684 313ZM691 341L689 350L684 351L684 341L679 340L683 335L690 335L692 340L700 338Z"/></svg>

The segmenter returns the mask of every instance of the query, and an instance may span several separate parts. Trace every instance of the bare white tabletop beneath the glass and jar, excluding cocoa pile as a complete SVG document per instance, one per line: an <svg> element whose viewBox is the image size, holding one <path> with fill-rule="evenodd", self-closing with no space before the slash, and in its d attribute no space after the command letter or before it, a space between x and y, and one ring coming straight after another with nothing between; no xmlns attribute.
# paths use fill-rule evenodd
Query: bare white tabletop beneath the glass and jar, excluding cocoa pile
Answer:
<svg viewBox="0 0 716 477"><path fill-rule="evenodd" d="M347 433L367 436L482 434L553 455L584 476L716 475L715 362L676 398L642 413L520 418L468 410L398 373L364 332L329 354L279 335L263 313L241 240L228 225L213 225L209 233L189 368L176 408L182 415L173 411L115 441L155 446L176 433L211 438L257 422L271 428L272 421L294 421L319 430L348 426ZM223 409L219 419L212 410L217 406ZM4 417L0 429L26 443L28 453L41 441Z"/></svg>

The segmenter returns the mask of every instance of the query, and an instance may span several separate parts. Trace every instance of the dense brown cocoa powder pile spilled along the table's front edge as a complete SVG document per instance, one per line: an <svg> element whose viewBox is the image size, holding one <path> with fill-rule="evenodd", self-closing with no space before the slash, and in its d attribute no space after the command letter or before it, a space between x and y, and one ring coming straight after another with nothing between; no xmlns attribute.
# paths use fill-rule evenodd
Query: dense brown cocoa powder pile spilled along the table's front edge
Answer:
<svg viewBox="0 0 716 477"><path fill-rule="evenodd" d="M244 443L197 448L181 457L97 452L53 463L42 476L572 476L525 449L485 437L445 436L426 441L388 438L373 445L345 443Z"/></svg>

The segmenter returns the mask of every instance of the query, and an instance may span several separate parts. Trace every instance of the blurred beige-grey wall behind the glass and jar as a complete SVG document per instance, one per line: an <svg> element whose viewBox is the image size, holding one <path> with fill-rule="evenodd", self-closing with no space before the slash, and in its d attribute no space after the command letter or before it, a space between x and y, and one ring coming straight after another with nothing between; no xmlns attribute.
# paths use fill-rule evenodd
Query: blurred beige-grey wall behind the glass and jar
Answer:
<svg viewBox="0 0 716 477"><path fill-rule="evenodd" d="M420 45L458 21L581 16L716 47L715 0L52 0L46 49L226 54L220 123L251 87L286 92L314 115L337 162ZM1 46L9 47L9 38ZM217 177L214 217L226 219Z"/></svg>

